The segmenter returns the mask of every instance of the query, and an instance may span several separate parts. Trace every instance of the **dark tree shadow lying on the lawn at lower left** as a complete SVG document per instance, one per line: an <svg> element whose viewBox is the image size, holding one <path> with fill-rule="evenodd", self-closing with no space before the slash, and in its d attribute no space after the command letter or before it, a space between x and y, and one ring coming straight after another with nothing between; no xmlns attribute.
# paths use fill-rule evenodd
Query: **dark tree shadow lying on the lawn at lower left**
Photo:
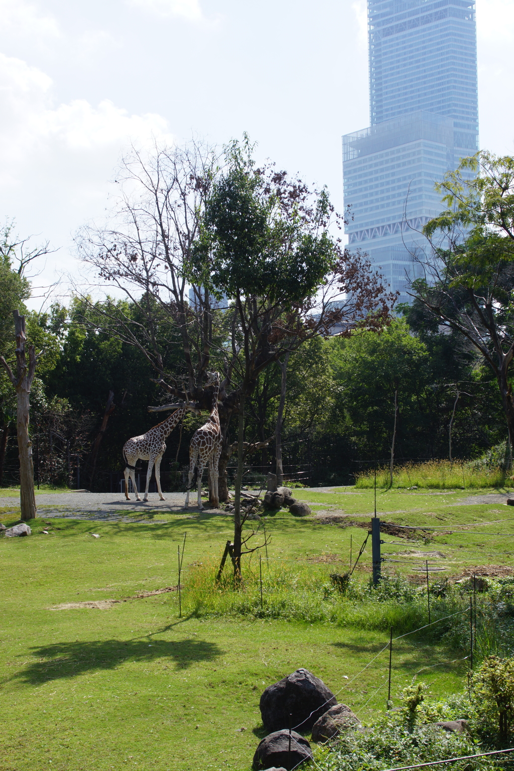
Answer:
<svg viewBox="0 0 514 771"><path fill-rule="evenodd" d="M211 662L223 654L213 642L187 639L164 640L93 640L58 642L30 649L39 661L29 664L15 679L38 685L49 680L75 677L85 672L114 669L124 662L151 663L170 659L176 669L186 669L195 662Z"/></svg>

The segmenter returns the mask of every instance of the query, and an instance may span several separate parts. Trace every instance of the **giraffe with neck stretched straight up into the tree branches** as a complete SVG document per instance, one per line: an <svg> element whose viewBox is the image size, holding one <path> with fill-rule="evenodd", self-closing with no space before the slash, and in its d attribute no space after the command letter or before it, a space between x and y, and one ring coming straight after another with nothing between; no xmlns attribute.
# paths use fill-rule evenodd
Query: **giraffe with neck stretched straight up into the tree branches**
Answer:
<svg viewBox="0 0 514 771"><path fill-rule="evenodd" d="M209 466L209 476L213 497L213 507L219 506L218 500L218 463L221 454L221 429L220 416L218 415L218 392L220 391L220 373L207 372L207 385L214 385L213 409L210 412L207 423L194 434L191 439L189 455L190 469L187 482L186 503L184 508L189 507L189 493L191 489L191 480L193 479L194 467L198 466L198 508L203 510L202 506L202 476L205 466Z"/></svg>

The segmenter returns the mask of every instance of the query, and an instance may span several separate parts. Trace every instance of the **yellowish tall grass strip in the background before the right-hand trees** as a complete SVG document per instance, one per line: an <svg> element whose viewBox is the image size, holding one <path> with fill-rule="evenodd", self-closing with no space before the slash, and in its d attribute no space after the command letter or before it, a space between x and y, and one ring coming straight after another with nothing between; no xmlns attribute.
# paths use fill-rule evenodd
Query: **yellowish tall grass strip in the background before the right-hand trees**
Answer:
<svg viewBox="0 0 514 771"><path fill-rule="evenodd" d="M355 487L369 488L375 483L374 472L365 471L357 474ZM428 460L425 463L406 463L393 471L393 487L424 487L432 490L458 490L482 487L503 487L506 473L499 467L477 468L472 463L449 460ZM386 466L377 471L377 487L391 486L389 469Z"/></svg>

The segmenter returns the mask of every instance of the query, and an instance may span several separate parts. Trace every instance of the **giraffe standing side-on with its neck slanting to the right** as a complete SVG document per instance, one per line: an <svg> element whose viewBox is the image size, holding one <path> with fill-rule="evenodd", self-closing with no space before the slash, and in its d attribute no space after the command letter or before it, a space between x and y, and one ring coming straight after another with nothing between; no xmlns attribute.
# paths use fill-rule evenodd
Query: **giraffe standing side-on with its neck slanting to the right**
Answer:
<svg viewBox="0 0 514 771"><path fill-rule="evenodd" d="M150 483L150 476L152 476L153 464L155 463L155 478L157 482L157 490L159 490L160 500L164 500L163 493L160 489L160 462L162 460L164 451L166 450L165 439L170 436L170 433L175 428L176 424L183 419L187 410L190 409L200 415L200 410L196 404L190 402L183 407L176 409L171 413L169 418L163 420L163 423L158 423L153 428L149 429L143 436L133 436L132 439L128 439L123 445L123 458L125 459L125 497L129 498L129 476L132 480L133 489L136 491L136 500L139 498L139 493L136 487L136 475L134 471L136 469L136 462L140 458L141 460L148 461L148 471L146 472L146 490L143 500L148 500L148 488Z"/></svg>

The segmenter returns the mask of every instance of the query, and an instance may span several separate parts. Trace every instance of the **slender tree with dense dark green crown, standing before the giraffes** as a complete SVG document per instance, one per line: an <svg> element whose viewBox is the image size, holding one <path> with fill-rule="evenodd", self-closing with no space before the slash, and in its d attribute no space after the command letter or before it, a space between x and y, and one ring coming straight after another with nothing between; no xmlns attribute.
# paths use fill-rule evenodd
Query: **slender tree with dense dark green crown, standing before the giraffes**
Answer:
<svg viewBox="0 0 514 771"><path fill-rule="evenodd" d="M330 288L341 292L348 281L349 255L330 231L334 209L326 190L313 192L285 172L255 167L252 150L246 136L242 145L234 141L227 147L227 166L213 181L205 203L191 271L195 282L213 293L223 291L232 301L227 371L238 395L233 538L236 574L240 574L244 547L240 488L245 409L260 372L297 350L327 323L344 318L348 327L358 325L358 303L368 311L370 325L373 314L385 315L383 287L380 285L378 298L366 270L352 275L355 281L358 274L360 291L351 292L333 318L327 318L327 306L317 318L311 315L321 288L326 296ZM371 279L368 283L367 278Z"/></svg>

